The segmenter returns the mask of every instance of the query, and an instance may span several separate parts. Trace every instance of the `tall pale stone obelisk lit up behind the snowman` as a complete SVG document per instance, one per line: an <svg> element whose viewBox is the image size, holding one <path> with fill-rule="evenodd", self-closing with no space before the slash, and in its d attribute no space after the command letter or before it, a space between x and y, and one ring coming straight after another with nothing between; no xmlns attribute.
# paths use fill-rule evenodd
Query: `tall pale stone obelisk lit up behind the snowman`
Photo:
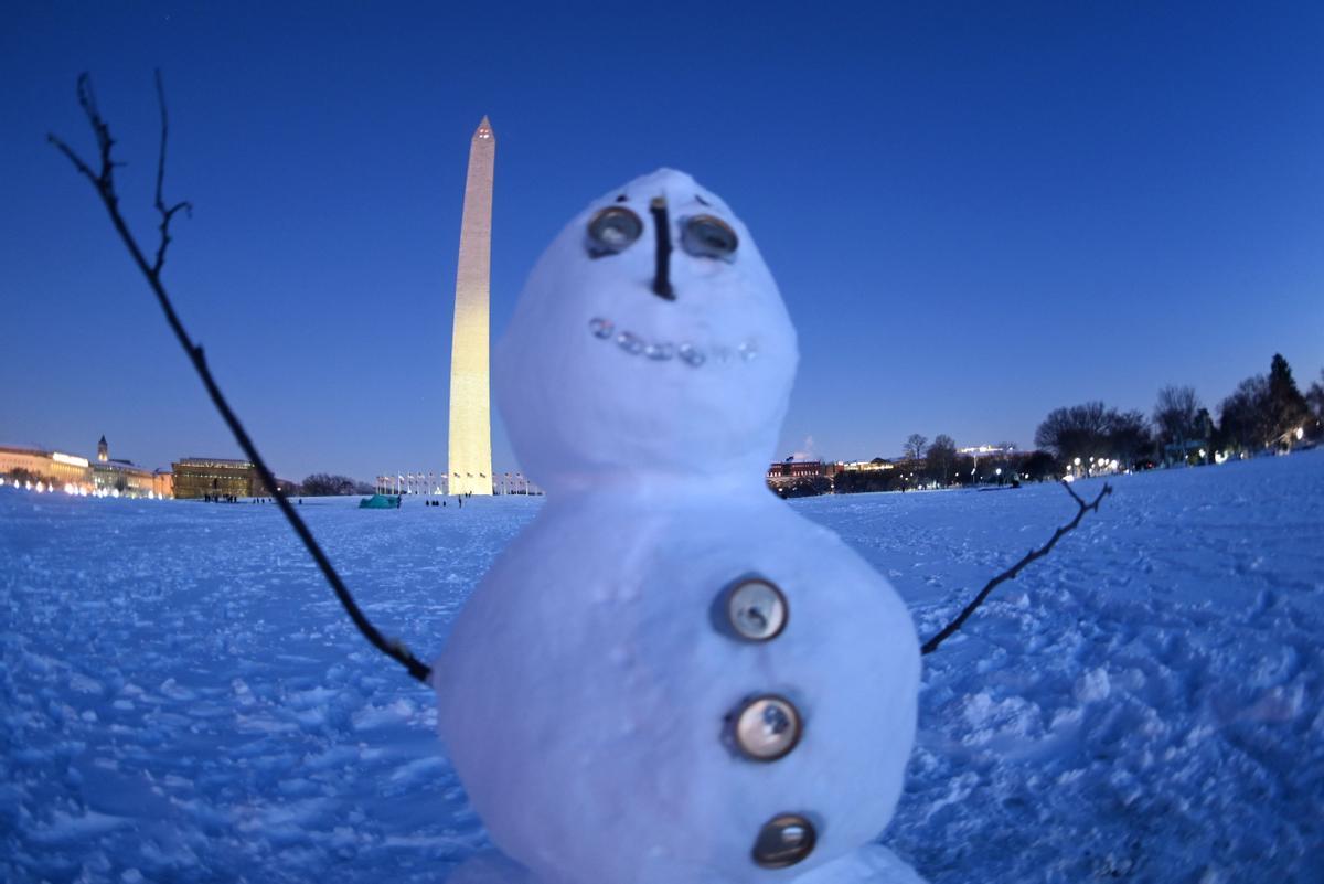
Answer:
<svg viewBox="0 0 1324 884"><path fill-rule="evenodd" d="M450 343L450 494L493 492L487 287L491 277L495 159L496 135L483 116L469 143L465 212L459 221L455 324Z"/></svg>

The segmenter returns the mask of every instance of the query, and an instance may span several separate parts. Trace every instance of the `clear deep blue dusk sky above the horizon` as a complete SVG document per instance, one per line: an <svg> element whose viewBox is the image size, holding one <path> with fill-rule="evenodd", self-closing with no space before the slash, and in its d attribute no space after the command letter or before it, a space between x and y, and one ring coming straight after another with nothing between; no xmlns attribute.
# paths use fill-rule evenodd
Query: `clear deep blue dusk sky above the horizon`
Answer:
<svg viewBox="0 0 1324 884"><path fill-rule="evenodd" d="M659 165L749 226L800 332L779 457L1033 443L1324 365L1317 4L151 4L0 12L0 443L238 457L91 187L90 71L143 240L275 472L446 464L469 140L493 333L588 201ZM494 467L516 463L499 418Z"/></svg>

